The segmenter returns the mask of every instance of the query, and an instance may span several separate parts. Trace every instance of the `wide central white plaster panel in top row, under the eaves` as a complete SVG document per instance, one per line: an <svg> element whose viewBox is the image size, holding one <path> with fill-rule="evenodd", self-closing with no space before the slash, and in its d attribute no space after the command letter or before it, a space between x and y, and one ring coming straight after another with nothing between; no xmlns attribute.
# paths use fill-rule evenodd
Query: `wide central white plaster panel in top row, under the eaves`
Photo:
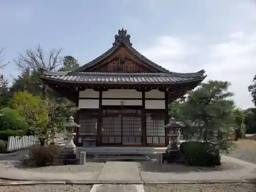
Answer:
<svg viewBox="0 0 256 192"><path fill-rule="evenodd" d="M102 98L142 98L142 93L132 89L110 89L102 92Z"/></svg>

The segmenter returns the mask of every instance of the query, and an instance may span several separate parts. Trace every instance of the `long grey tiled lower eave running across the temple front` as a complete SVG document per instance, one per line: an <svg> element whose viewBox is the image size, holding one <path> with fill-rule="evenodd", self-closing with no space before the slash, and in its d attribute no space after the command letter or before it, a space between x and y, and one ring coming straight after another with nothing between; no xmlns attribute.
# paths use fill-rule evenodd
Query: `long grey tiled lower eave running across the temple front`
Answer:
<svg viewBox="0 0 256 192"><path fill-rule="evenodd" d="M42 79L79 83L176 83L203 80L198 73L101 73L101 72L44 72Z"/></svg>

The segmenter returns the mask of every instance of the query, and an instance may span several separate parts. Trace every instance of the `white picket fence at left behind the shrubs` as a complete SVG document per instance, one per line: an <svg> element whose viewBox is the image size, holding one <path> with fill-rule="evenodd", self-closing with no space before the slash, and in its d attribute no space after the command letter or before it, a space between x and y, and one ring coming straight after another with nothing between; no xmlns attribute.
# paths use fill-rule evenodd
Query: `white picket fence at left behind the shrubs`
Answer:
<svg viewBox="0 0 256 192"><path fill-rule="evenodd" d="M10 136L7 142L7 152L23 150L39 144L38 136Z"/></svg>

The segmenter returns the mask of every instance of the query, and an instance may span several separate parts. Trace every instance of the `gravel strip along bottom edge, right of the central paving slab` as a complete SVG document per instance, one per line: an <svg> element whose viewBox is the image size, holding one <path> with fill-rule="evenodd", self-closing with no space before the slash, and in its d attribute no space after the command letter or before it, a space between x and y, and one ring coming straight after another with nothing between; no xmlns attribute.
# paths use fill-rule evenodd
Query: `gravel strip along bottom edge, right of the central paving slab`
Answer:
<svg viewBox="0 0 256 192"><path fill-rule="evenodd" d="M247 183L235 184L174 184L145 185L145 192L255 192L256 186Z"/></svg>

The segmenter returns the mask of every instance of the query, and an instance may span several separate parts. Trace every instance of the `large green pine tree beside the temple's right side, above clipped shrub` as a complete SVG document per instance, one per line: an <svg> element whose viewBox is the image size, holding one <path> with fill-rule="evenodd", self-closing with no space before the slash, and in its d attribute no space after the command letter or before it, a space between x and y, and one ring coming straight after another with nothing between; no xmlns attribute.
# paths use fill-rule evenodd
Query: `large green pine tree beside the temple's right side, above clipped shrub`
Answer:
<svg viewBox="0 0 256 192"><path fill-rule="evenodd" d="M184 102L182 117L186 124L184 131L190 137L215 142L222 150L229 145L226 139L230 127L235 126L227 81L209 80L188 94Z"/></svg>

